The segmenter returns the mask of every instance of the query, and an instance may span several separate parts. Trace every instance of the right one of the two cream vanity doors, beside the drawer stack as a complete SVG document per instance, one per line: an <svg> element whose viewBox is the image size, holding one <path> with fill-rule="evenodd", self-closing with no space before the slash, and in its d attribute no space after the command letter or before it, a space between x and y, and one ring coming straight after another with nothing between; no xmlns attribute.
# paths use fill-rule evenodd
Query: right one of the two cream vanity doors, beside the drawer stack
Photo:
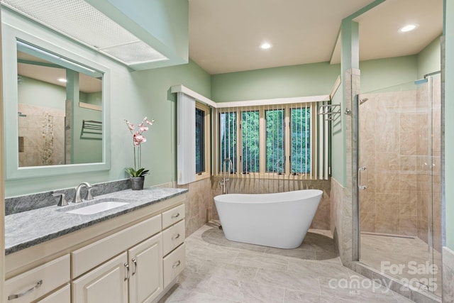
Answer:
<svg viewBox="0 0 454 303"><path fill-rule="evenodd" d="M152 302L162 287L162 233L128 250L129 302Z"/></svg>

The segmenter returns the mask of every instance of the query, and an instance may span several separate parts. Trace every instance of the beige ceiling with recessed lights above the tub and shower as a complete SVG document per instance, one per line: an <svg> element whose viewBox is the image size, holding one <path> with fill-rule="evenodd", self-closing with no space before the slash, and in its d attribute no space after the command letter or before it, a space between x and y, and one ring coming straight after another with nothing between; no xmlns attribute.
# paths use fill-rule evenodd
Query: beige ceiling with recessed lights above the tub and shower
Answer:
<svg viewBox="0 0 454 303"><path fill-rule="evenodd" d="M338 63L342 19L372 2L189 0L189 57L211 75ZM360 24L360 60L414 55L441 35L443 0L386 0L355 21ZM398 33L406 23L419 27ZM263 42L272 48L261 50Z"/></svg>

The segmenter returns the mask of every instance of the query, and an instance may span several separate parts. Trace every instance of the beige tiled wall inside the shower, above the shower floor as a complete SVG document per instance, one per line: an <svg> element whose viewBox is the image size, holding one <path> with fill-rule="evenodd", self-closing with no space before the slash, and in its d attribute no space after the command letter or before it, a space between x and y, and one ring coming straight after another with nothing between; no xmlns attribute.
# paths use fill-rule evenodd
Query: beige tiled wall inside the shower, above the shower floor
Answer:
<svg viewBox="0 0 454 303"><path fill-rule="evenodd" d="M367 189L360 191L361 231L427 242L433 212L434 235L441 235L435 226L441 222L440 92L433 89L433 109L429 92L424 86L361 95L368 98L360 105L360 166L367 167ZM364 184L365 172L361 177Z"/></svg>

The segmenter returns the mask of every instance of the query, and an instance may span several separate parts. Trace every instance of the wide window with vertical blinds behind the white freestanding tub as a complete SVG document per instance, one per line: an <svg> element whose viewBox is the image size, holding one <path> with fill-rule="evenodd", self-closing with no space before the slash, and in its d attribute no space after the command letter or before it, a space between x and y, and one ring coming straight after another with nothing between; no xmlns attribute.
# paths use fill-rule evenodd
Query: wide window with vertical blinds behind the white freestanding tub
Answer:
<svg viewBox="0 0 454 303"><path fill-rule="evenodd" d="M311 102L216 109L215 172L221 174L223 160L230 158L231 173L237 177L326 178L328 126L322 118L315 119L317 106Z"/></svg>

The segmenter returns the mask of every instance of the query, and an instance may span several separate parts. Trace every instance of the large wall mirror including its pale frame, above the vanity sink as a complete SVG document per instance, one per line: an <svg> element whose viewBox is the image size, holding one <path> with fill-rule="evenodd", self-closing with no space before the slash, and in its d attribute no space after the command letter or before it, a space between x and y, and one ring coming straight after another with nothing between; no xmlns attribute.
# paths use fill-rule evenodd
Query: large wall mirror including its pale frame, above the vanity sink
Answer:
<svg viewBox="0 0 454 303"><path fill-rule="evenodd" d="M6 179L110 168L109 70L4 25Z"/></svg>

